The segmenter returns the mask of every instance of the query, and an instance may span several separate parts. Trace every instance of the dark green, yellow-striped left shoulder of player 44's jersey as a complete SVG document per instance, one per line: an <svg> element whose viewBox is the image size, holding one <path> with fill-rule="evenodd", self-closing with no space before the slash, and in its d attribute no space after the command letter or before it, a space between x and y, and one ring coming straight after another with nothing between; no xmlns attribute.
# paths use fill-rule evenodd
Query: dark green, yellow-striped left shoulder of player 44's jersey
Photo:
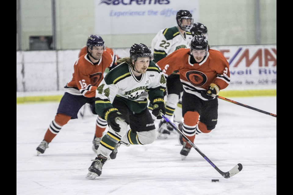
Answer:
<svg viewBox="0 0 293 195"><path fill-rule="evenodd" d="M112 69L107 75L105 76L105 82L109 84L116 84L120 80L123 80L127 78L128 76L131 76L129 73L128 64L126 62L123 62L116 66L114 69Z"/></svg>

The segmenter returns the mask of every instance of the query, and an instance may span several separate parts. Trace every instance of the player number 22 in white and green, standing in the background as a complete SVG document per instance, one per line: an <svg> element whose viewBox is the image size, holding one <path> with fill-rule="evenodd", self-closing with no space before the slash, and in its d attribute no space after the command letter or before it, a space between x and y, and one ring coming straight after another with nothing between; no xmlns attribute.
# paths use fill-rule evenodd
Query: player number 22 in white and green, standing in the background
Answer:
<svg viewBox="0 0 293 195"><path fill-rule="evenodd" d="M193 16L191 12L189 10L179 10L176 14L176 22L177 26L160 30L152 40L151 47L154 52L154 62L158 62L180 48L190 48L192 35L189 30L193 26ZM173 114L176 109L177 114L174 114L174 122L179 123L182 120L182 104L179 99L181 99L181 95L183 94L183 87L180 82L178 71L174 71L174 73L169 75L166 80L166 117L173 121ZM149 110L152 110L151 106L149 107ZM161 119L158 128L158 138L166 139L168 138L168 135L170 135L170 132L175 133L172 126L170 126L164 119Z"/></svg>

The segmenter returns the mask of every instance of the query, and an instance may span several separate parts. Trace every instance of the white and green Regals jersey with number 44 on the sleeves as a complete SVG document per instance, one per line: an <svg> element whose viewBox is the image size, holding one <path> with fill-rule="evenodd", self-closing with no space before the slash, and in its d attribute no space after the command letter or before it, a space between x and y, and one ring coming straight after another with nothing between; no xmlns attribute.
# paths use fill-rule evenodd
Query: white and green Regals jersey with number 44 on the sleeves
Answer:
<svg viewBox="0 0 293 195"><path fill-rule="evenodd" d="M96 112L104 117L109 108L113 108L114 98L125 102L132 112L139 113L147 108L155 98L164 98L166 80L162 70L153 62L146 73L138 80L132 68L126 62L112 69L99 84L96 90Z"/></svg>

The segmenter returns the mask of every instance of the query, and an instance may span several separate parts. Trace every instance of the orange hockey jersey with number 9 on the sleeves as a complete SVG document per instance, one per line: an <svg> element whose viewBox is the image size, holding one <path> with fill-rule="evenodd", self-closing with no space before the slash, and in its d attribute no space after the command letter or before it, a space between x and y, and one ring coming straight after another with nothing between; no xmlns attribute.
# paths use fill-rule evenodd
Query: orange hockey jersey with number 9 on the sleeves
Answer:
<svg viewBox="0 0 293 195"><path fill-rule="evenodd" d="M157 62L165 76L179 70L183 89L190 94L206 100L201 91L207 90L211 83L225 89L230 83L229 63L220 51L209 49L201 63L191 63L190 49L182 48L174 51ZM195 60L193 59L195 62Z"/></svg>

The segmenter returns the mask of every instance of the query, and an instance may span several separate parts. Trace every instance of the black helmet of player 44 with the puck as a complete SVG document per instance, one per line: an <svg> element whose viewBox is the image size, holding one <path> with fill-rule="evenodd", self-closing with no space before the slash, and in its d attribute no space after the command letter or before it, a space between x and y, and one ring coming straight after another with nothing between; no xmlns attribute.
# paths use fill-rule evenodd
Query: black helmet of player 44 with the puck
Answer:
<svg viewBox="0 0 293 195"><path fill-rule="evenodd" d="M153 58L152 51L150 51L150 48L148 48L147 45L143 43L133 44L129 53L131 60L134 61L136 61L138 57L147 57L150 58L150 60Z"/></svg>

